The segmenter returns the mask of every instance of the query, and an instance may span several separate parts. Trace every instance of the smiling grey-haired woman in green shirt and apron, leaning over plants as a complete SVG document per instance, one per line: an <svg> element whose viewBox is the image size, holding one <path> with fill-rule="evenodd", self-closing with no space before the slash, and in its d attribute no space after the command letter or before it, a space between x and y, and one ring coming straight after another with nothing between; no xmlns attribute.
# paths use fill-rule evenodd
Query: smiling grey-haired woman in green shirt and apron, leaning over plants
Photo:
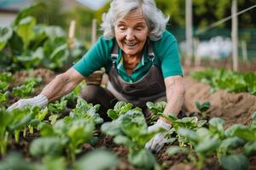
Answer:
<svg viewBox="0 0 256 170"><path fill-rule="evenodd" d="M168 18L156 8L154 0L113 0L102 16L103 37L68 71L56 76L41 94L20 99L9 110L25 105L47 105L75 88L84 77L105 68L108 88L87 85L82 97L102 105L106 115L117 99L131 102L145 111L147 101L166 99L164 114L178 114L183 105L183 72L177 52L177 40L166 31ZM163 117L150 130L171 124ZM157 134L146 147L160 150L166 143Z"/></svg>

